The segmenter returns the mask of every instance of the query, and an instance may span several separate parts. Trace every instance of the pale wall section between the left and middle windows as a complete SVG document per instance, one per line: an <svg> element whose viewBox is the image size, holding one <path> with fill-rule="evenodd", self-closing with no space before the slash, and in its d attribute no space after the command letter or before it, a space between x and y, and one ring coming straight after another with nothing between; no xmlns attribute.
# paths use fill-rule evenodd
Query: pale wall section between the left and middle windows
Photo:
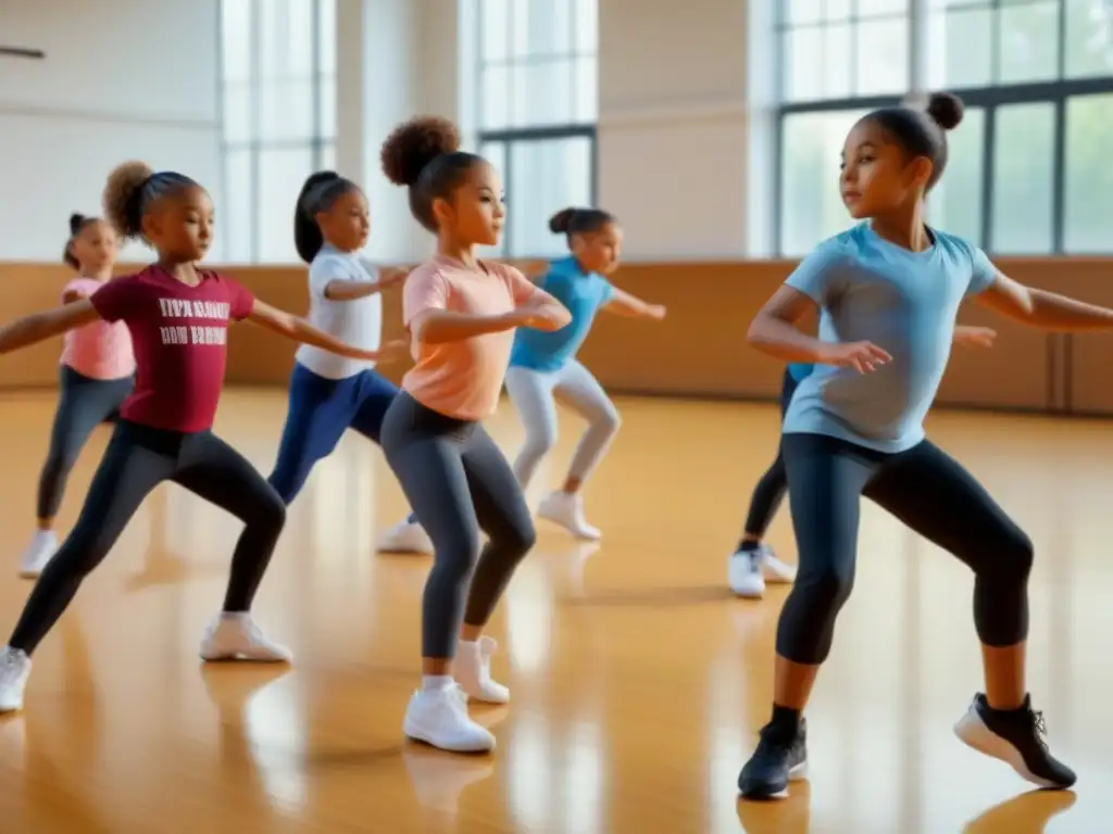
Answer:
<svg viewBox="0 0 1113 834"><path fill-rule="evenodd" d="M412 218L406 189L387 181L383 140L417 115L460 111L455 0L339 0L336 167L371 203L367 255L422 260L433 240Z"/></svg>

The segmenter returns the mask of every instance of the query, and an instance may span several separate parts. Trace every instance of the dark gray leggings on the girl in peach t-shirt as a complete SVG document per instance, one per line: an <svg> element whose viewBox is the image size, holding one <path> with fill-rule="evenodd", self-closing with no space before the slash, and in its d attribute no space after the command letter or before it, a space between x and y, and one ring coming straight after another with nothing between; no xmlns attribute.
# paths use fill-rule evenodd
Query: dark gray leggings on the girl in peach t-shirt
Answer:
<svg viewBox="0 0 1113 834"><path fill-rule="evenodd" d="M482 425L445 417L405 391L386 410L380 441L433 540L433 569L422 602L422 657L451 658L461 620L486 624L518 563L533 547L536 534L525 496ZM489 537L482 554L481 527Z"/></svg>

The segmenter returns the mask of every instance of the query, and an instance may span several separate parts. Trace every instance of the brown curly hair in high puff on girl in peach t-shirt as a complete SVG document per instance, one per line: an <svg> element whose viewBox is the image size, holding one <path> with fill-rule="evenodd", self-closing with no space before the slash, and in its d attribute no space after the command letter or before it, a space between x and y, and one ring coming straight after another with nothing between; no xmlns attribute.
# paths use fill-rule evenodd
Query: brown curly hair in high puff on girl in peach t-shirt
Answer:
<svg viewBox="0 0 1113 834"><path fill-rule="evenodd" d="M460 150L453 122L433 116L396 127L383 142L382 162L391 182L410 189L410 210L433 232L433 201L450 198L474 166L485 165L482 157Z"/></svg>

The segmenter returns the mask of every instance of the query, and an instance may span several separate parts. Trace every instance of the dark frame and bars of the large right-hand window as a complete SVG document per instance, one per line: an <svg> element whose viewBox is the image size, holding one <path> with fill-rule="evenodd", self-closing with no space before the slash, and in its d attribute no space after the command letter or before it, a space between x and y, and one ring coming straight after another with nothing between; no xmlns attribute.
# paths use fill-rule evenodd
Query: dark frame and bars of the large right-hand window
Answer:
<svg viewBox="0 0 1113 834"><path fill-rule="evenodd" d="M926 2L927 0L925 0ZM1044 2L1046 0L1031 0ZM915 62L917 59L918 42L926 40L924 30L925 20L913 14L912 2L909 0L906 11L908 18L908 77L915 87ZM1057 43L1057 75L1058 79L1053 81L1036 81L1026 83L994 85L988 87L957 87L949 89L963 99L964 105L971 109L984 109L985 132L982 139L982 218L981 235L982 247L986 252L994 254L994 145L996 139L996 117L997 109L1011 105L1026 103L1051 103L1054 107L1054 138L1052 145L1053 152L1053 182L1052 182L1052 248L1045 252L1045 257L1064 254L1065 239L1065 216L1066 216L1066 109L1067 102L1081 96L1093 96L1113 93L1113 71L1109 76L1097 76L1091 78L1068 78L1066 77L1066 48L1067 48L1067 2L1068 0L1057 0L1058 3L1058 43ZM973 6L973 3L972 3ZM998 8L1001 0L991 0L988 8ZM858 22L861 20L892 18L887 14L857 14L858 0L850 0L850 14L839 22ZM775 119L774 119L774 142L772 142L772 190L774 190L774 216L772 216L772 244L774 252L777 257L788 257L785 255L785 234L782 212L785 209L785 127L786 120L799 113L823 113L837 112L841 110L875 110L881 107L894 107L899 105L905 96L850 96L831 99L816 99L810 101L786 101L787 89L786 61L785 61L785 32L802 27L820 27L825 23L805 23L794 27L788 23L784 13L787 9L787 0L780 7L781 14L777 16L775 23L774 43L774 90L775 90ZM851 30L854 31L854 30ZM993 51L991 60L993 66L997 66L998 52L1001 49L1001 27L994 26L991 30L991 44ZM833 161L834 165L834 161ZM834 176L834 175L833 175ZM819 241L816 241L819 242ZM1110 245L1113 252L1113 242ZM1007 255L1008 252L1001 252Z"/></svg>

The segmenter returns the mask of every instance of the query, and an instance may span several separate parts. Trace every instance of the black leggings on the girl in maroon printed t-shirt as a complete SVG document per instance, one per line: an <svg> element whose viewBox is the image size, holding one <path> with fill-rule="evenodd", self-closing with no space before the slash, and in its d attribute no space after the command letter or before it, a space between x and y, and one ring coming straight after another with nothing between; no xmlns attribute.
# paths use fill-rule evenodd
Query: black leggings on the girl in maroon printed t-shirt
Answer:
<svg viewBox="0 0 1113 834"><path fill-rule="evenodd" d="M224 609L250 608L286 520L286 505L243 455L211 431L183 434L120 420L81 515L36 583L10 646L27 654L35 651L144 498L164 480L184 486L244 522Z"/></svg>

